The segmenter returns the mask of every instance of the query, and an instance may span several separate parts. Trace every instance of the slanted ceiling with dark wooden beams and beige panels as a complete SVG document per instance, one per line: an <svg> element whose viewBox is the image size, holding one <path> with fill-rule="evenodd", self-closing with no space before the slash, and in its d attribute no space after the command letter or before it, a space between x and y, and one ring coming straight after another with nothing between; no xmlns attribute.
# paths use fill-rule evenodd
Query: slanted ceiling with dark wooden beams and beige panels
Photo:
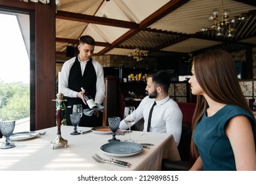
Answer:
<svg viewBox="0 0 256 184"><path fill-rule="evenodd" d="M199 32L211 25L207 17L213 9L221 11L221 0L61 0L56 13L57 60L65 60L66 46L76 47L79 37L87 34L96 41L94 55L128 55L138 48L149 57L161 57L255 47L255 3L224 0L231 16L248 16L230 40Z"/></svg>

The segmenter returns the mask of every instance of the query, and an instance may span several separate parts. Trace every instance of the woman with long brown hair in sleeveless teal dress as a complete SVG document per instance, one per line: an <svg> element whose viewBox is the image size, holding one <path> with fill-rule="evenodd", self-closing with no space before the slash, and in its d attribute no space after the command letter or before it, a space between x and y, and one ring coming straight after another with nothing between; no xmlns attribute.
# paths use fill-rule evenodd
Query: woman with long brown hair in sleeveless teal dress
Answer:
<svg viewBox="0 0 256 184"><path fill-rule="evenodd" d="M256 170L256 122L230 55L209 51L195 57L189 83L197 95L192 120L197 160L190 170Z"/></svg>

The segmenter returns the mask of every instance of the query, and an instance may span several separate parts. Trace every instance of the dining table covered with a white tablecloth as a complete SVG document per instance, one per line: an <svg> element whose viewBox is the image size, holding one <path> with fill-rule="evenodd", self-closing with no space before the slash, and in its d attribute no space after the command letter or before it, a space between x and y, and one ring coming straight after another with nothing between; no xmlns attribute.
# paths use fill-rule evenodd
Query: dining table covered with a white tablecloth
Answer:
<svg viewBox="0 0 256 184"><path fill-rule="evenodd" d="M80 131L90 130L91 127L78 127ZM109 154L102 147L112 139L111 132L90 131L80 135L70 135L72 126L61 126L61 137L67 141L66 147L53 148L52 141L57 137L57 126L37 130L30 139L11 141L15 144L12 149L0 149L0 171L157 171L161 170L163 158L180 160L180 155L174 137L167 133L132 131L131 137L136 143L150 143L136 154ZM125 141L128 133L116 135L116 139ZM131 164L121 167L115 164L96 162L92 156L99 154L103 158L113 158Z"/></svg>

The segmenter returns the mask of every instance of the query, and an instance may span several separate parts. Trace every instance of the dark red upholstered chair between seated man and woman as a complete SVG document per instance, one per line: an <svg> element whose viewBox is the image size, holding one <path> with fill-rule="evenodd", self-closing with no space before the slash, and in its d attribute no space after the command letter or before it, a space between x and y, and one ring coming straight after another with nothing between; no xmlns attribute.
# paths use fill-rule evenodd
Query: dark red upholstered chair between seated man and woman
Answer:
<svg viewBox="0 0 256 184"><path fill-rule="evenodd" d="M190 144L192 137L192 117L195 110L195 103L178 103L183 114L182 135L178 145L181 160L162 160L162 170L164 171L186 171L191 168L194 160L190 154Z"/></svg>

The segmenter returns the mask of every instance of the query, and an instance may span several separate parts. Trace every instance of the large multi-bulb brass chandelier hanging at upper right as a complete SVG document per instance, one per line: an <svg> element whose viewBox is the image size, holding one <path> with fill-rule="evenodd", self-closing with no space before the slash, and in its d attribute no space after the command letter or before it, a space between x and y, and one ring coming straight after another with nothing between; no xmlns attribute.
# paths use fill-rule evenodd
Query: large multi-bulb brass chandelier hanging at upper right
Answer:
<svg viewBox="0 0 256 184"><path fill-rule="evenodd" d="M241 16L237 16L234 18L230 18L230 11L228 9L224 9L223 0L222 0L222 11L218 11L215 9L212 14L208 17L210 22L213 22L211 27L201 28L201 32L208 32L213 30L216 32L217 37L222 37L226 35L226 37L232 39L236 32L235 26L238 22L243 22L247 20L247 16L245 14Z"/></svg>

